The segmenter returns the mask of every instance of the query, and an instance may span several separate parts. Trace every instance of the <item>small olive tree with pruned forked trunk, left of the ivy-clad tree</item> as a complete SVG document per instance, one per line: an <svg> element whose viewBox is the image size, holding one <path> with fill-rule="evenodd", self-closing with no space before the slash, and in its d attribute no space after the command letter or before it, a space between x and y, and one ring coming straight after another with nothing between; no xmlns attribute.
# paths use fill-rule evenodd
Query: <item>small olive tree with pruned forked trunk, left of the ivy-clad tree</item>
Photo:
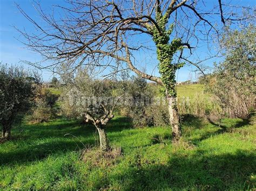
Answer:
<svg viewBox="0 0 256 191"><path fill-rule="evenodd" d="M109 150L105 126L114 117L113 110L122 97L115 96L116 85L112 81L94 79L85 68L79 68L73 78L63 79L63 82L60 100L64 114L93 124L99 133L100 148Z"/></svg>

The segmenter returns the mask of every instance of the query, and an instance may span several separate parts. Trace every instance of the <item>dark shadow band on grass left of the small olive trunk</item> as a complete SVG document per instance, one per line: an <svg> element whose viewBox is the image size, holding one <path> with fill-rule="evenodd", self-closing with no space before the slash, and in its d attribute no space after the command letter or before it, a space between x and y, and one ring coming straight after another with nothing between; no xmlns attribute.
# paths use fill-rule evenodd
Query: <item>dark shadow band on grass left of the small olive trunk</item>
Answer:
<svg viewBox="0 0 256 191"><path fill-rule="evenodd" d="M95 128L75 121L24 125L23 131L16 129L9 143L0 145L3 147L0 165L42 160L51 154L77 151L85 145L95 144Z"/></svg>

